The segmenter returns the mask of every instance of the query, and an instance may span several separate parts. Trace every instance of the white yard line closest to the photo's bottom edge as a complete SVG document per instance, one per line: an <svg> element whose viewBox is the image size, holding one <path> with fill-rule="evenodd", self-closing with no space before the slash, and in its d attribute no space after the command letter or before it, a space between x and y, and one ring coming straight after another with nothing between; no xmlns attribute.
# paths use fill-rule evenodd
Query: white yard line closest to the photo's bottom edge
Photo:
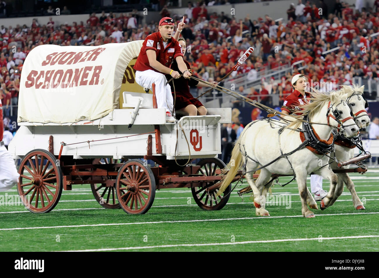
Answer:
<svg viewBox="0 0 379 278"><path fill-rule="evenodd" d="M360 238L378 238L379 235L366 236L335 236L330 238L286 238L286 239L271 239L257 241L240 241L240 242L214 242L214 243L194 243L194 244L168 244L168 245L153 245L153 246L133 246L121 248L100 248L86 250L67 250L61 252L95 252L95 251L115 251L115 250L136 250L136 249L152 249L152 248L171 248L171 247L192 247L192 246L219 246L219 245L241 245L253 243L271 243L271 242L288 242L288 241L310 241L310 240L335 240L335 239L360 239Z"/></svg>

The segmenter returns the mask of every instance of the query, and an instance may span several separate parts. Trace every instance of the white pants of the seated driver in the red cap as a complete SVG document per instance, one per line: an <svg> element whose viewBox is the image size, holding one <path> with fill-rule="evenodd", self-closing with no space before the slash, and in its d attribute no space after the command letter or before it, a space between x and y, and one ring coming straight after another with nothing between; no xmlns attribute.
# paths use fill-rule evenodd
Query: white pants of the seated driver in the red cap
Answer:
<svg viewBox="0 0 379 278"><path fill-rule="evenodd" d="M157 108L165 108L166 111L172 112L174 100L172 99L170 85L166 85L166 76L153 70L136 71L136 82L141 87L149 88L150 90L153 89L152 84L154 83Z"/></svg>

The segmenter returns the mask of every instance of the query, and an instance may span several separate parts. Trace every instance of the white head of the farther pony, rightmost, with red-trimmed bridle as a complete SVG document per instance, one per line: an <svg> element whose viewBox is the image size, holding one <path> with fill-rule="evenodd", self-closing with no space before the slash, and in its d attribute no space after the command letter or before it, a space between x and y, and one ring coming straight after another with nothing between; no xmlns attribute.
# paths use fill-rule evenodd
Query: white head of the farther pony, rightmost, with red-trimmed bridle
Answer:
<svg viewBox="0 0 379 278"><path fill-rule="evenodd" d="M354 121L359 128L365 128L370 124L370 117L367 115L366 108L368 103L363 96L365 86L359 87L354 84L352 86L343 85L341 93L348 94L346 102L349 104L353 113Z"/></svg>

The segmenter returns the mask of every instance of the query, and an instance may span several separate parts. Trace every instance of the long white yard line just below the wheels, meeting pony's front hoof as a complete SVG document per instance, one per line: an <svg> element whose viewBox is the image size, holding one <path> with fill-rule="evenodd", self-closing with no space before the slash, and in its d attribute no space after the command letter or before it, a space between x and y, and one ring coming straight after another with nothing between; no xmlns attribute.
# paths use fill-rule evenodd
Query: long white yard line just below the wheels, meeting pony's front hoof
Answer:
<svg viewBox="0 0 379 278"><path fill-rule="evenodd" d="M353 215L353 214L379 214L379 212L368 213L335 213L335 214L317 214L318 216L336 216L336 215ZM177 221L149 221L149 222L131 222L131 223L109 223L109 224L83 224L83 225L62 225L62 226L42 226L42 227L25 227L25 228L2 228L0 231L13 230L37 230L37 229L54 229L54 228L78 228L78 227L100 227L100 226L119 226L119 225L143 225L143 224L161 224L161 223L190 223L190 222L208 222L208 221L230 221L230 220L248 220L248 219L268 219L268 218L294 218L303 217L302 215L291 216L265 216L265 217L236 217L236 218L220 218L220 219L196 219L196 220L177 220Z"/></svg>

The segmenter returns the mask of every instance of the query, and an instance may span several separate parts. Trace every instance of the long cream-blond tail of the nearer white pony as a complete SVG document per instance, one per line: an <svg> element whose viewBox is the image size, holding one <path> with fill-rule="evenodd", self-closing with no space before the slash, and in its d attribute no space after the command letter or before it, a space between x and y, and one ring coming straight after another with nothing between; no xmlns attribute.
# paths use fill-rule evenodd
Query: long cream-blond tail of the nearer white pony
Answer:
<svg viewBox="0 0 379 278"><path fill-rule="evenodd" d="M224 168L222 173L227 173L223 178L222 178L222 184L219 189L218 194L221 194L222 192L225 191L225 189L229 186L229 184L232 182L234 177L236 176L238 169L242 166L243 160L242 160L242 153L240 152L240 143L244 134L244 131L247 130L246 128L241 132L240 138L236 141L233 151L232 151L232 156L230 157L230 161L228 165Z"/></svg>

